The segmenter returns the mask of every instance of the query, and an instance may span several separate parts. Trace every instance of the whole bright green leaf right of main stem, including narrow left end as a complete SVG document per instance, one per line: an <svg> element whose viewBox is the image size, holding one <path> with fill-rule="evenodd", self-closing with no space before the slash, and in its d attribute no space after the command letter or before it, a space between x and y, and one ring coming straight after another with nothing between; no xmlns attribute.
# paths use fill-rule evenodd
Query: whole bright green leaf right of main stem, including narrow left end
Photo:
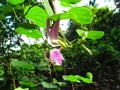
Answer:
<svg viewBox="0 0 120 90"><path fill-rule="evenodd" d="M58 19L72 19L80 24L89 24L93 17L90 9L86 7L73 7L68 12L51 16L51 19L54 21Z"/></svg>

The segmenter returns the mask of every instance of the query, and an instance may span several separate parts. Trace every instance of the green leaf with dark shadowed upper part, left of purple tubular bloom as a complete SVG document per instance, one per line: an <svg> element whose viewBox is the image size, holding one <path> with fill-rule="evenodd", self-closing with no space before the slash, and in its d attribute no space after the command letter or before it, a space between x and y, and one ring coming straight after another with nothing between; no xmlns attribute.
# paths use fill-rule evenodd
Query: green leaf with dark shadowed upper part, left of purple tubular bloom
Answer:
<svg viewBox="0 0 120 90"><path fill-rule="evenodd" d="M42 37L41 32L32 24L21 24L18 28L16 28L16 32L35 39Z"/></svg>

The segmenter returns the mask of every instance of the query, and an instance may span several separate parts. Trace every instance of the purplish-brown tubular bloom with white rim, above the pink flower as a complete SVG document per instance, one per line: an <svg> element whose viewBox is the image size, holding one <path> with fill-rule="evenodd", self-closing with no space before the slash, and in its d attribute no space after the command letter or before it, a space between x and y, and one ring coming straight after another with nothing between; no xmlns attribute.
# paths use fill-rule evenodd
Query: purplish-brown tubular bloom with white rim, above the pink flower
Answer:
<svg viewBox="0 0 120 90"><path fill-rule="evenodd" d="M50 27L50 19L47 19L47 41L51 46L60 46L58 44L58 29L59 29L59 20L56 21L52 27Z"/></svg>

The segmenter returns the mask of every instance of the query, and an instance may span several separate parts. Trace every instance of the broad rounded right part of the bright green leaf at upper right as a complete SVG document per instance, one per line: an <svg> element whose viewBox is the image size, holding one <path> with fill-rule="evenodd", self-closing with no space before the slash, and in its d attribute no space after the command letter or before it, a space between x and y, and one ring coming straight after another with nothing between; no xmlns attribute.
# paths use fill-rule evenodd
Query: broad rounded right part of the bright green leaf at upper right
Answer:
<svg viewBox="0 0 120 90"><path fill-rule="evenodd" d="M92 22L92 13L86 7L74 7L68 12L71 13L71 18L80 24L89 24Z"/></svg>

